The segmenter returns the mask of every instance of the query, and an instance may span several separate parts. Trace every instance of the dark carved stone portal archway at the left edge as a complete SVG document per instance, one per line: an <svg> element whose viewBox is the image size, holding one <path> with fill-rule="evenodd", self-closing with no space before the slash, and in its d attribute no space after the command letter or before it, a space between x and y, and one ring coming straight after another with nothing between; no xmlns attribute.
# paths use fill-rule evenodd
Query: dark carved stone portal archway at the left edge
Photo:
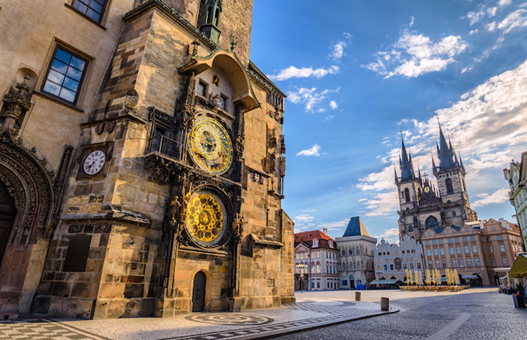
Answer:
<svg viewBox="0 0 527 340"><path fill-rule="evenodd" d="M0 315L29 313L40 281L49 237L58 222L60 195L73 148L66 147L58 172L46 169L35 148L0 130L0 182L16 213L1 242ZM11 209L13 210L13 209ZM9 306L9 310L4 310ZM15 308L15 309L13 309Z"/></svg>

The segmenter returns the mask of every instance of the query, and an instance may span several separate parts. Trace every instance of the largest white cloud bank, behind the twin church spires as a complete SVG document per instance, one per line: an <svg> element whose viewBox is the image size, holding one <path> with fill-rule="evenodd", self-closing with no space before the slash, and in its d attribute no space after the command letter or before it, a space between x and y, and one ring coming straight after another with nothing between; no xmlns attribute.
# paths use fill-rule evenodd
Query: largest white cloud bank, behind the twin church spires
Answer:
<svg viewBox="0 0 527 340"><path fill-rule="evenodd" d="M463 94L452 105L437 110L427 120L402 120L403 130L412 133L412 142L405 141L406 146L411 148L414 165L418 162L421 171L431 172L430 151L434 151L435 157L439 118L443 132L451 135L454 148L461 153L469 193L496 190L496 183L505 185L502 169L512 158L518 158L527 145L525 93L527 61L513 70L491 77ZM400 147L397 146L386 154L391 163L398 161ZM391 164L359 179L358 189L374 193L365 202L366 216L388 216L398 209L393 178ZM433 176L430 179L434 181ZM507 190L500 189L486 196L480 194L472 207L504 202L508 199Z"/></svg>

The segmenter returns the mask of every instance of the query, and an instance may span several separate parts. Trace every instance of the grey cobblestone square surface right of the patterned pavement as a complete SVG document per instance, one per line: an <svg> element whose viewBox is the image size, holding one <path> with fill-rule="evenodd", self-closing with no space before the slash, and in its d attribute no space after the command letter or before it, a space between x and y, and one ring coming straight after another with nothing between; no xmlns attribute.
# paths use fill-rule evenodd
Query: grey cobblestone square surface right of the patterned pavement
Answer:
<svg viewBox="0 0 527 340"><path fill-rule="evenodd" d="M374 292L382 295L383 291ZM402 299L396 298L396 291L388 294L392 294L390 304L401 312L276 339L527 339L527 309L514 308L512 296L497 289Z"/></svg>

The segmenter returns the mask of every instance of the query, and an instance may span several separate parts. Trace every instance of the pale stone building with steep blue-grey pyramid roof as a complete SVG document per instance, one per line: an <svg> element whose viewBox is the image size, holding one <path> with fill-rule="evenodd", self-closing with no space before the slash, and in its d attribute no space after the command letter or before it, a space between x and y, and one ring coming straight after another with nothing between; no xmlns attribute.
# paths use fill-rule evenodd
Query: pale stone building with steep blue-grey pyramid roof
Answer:
<svg viewBox="0 0 527 340"><path fill-rule="evenodd" d="M375 277L373 249L377 239L368 231L359 216L349 219L342 237L335 238L340 250L340 283L342 288L369 288Z"/></svg>

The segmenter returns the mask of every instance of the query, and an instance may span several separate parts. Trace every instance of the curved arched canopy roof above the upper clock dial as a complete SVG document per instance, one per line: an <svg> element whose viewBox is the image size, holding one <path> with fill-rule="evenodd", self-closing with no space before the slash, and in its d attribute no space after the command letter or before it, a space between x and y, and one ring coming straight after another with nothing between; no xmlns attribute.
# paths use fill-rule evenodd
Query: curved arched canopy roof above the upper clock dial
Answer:
<svg viewBox="0 0 527 340"><path fill-rule="evenodd" d="M181 66L179 72L194 71L199 74L208 69L219 69L227 75L234 93L232 101L242 103L245 111L250 111L260 106L255 93L252 91L249 75L238 56L233 52L216 50L206 57L196 57Z"/></svg>

